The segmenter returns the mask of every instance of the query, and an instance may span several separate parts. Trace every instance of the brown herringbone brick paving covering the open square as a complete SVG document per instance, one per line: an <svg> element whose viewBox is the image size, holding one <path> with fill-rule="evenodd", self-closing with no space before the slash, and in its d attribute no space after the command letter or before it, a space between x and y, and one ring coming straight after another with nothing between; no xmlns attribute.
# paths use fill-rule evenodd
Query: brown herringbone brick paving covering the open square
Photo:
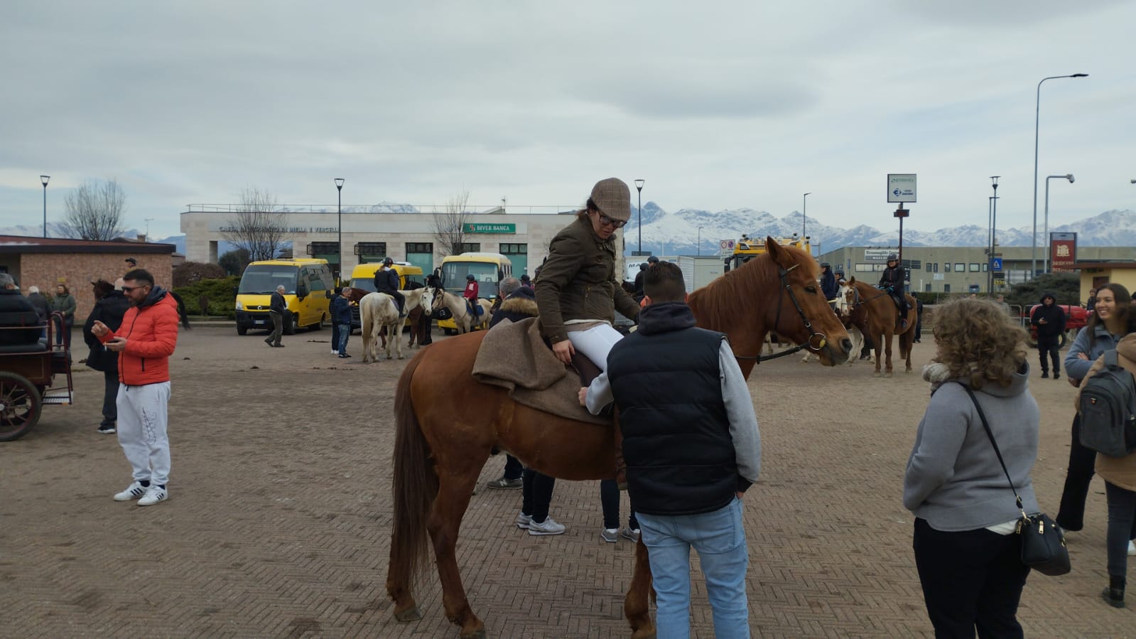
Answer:
<svg viewBox="0 0 1136 639"><path fill-rule="evenodd" d="M78 405L45 407L34 432L0 445L0 636L456 637L436 573L420 580L416 623L392 620L383 588L390 414L404 363L344 364L328 354L329 335L269 349L227 326L183 333L170 500L152 508L110 499L130 468L115 438L94 432L101 375L77 367ZM358 352L358 338L349 348ZM930 351L917 346L918 364ZM786 358L762 364L750 384L765 447L762 481L745 499L754 634L927 636L912 520L900 504L926 383ZM1072 391L1037 379L1034 393L1043 407L1034 480L1055 511ZM492 459L482 481L502 464ZM628 636L633 548L600 540L598 482L558 483L560 537L512 528L519 504L519 491L483 490L461 530L462 576L490 634ZM1136 636L1134 612L1097 597L1106 581L1099 480L1087 521L1070 541L1070 575L1030 576L1027 636ZM698 578L694 590L695 636L712 637Z"/></svg>

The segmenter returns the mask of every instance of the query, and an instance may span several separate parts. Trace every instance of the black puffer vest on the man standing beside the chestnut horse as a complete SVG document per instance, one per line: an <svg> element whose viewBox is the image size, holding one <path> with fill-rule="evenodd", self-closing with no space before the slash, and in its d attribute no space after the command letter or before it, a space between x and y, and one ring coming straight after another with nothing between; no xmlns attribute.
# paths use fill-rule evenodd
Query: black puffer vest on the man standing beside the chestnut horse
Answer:
<svg viewBox="0 0 1136 639"><path fill-rule="evenodd" d="M718 360L724 339L694 327L685 304L653 304L640 314L638 331L608 354L627 490L640 513L709 513L734 498L737 462Z"/></svg>

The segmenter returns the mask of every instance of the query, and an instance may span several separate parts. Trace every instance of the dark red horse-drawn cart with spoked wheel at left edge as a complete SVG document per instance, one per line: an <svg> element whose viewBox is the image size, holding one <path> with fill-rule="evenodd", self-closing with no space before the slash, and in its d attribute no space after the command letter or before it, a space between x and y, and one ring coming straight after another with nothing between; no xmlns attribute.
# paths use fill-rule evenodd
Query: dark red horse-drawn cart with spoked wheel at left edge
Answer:
<svg viewBox="0 0 1136 639"><path fill-rule="evenodd" d="M56 313L48 322L47 338L24 339L31 326L0 326L8 335L0 345L0 441L19 439L40 420L44 404L72 404L70 332L62 331L61 343L56 343L55 326L64 326L62 315ZM34 327L35 335L43 326ZM67 388L55 385L56 375L67 379Z"/></svg>

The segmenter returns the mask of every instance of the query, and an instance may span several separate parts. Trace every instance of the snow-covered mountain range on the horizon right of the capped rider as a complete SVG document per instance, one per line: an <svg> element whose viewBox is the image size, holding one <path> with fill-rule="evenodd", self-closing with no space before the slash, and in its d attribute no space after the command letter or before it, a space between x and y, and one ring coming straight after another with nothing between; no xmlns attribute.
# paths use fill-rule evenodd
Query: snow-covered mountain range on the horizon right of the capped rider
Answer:
<svg viewBox="0 0 1136 639"><path fill-rule="evenodd" d="M624 227L625 246L628 254L638 250L638 226L635 206L632 218ZM660 255L711 255L718 251L719 240L736 239L742 233L751 238L772 235L787 238L800 234L801 214L793 211L785 217L775 217L768 211L741 208L717 213L700 209L680 209L667 213L654 202L643 205L643 250ZM701 227L701 231L699 231ZM1033 225L1020 229L999 229L999 244L1027 247ZM1094 217L1051 226L1051 232L1076 232L1080 246L1136 247L1136 211L1108 210ZM849 246L895 246L899 229L879 231L861 224L851 229L829 226L813 217L805 221L804 232L812 238L812 246L822 252ZM903 231L903 243L918 247L983 247L988 240L988 229L975 224L938 229L933 232ZM699 236L701 235L701 244ZM1038 227L1038 246L1044 246L1042 229Z"/></svg>

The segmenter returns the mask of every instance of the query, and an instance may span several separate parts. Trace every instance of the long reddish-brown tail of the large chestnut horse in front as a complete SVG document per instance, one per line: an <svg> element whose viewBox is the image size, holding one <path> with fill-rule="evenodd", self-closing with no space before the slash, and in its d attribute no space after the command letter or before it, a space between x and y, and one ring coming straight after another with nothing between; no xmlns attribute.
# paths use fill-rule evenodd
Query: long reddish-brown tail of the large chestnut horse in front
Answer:
<svg viewBox="0 0 1136 639"><path fill-rule="evenodd" d="M426 520L437 496L437 474L429 447L415 415L410 380L421 363L424 350L410 360L394 391L394 525L391 532L391 563L386 583L412 589L426 569Z"/></svg>

